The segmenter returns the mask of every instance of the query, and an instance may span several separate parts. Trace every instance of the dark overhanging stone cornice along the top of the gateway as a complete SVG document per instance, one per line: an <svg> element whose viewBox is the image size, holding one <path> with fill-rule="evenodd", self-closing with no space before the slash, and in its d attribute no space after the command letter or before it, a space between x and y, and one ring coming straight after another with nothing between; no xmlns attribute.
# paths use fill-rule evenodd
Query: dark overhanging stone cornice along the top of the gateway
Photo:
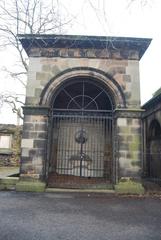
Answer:
<svg viewBox="0 0 161 240"><path fill-rule="evenodd" d="M80 35L24 34L18 37L26 53L35 57L100 58L104 56L105 58L106 55L106 58L114 58L118 55L119 59L136 59L136 57L140 59L151 42L149 38ZM47 51L42 51L38 55L40 49L47 49ZM89 49L94 51L89 51ZM107 51L107 54L104 51Z"/></svg>

